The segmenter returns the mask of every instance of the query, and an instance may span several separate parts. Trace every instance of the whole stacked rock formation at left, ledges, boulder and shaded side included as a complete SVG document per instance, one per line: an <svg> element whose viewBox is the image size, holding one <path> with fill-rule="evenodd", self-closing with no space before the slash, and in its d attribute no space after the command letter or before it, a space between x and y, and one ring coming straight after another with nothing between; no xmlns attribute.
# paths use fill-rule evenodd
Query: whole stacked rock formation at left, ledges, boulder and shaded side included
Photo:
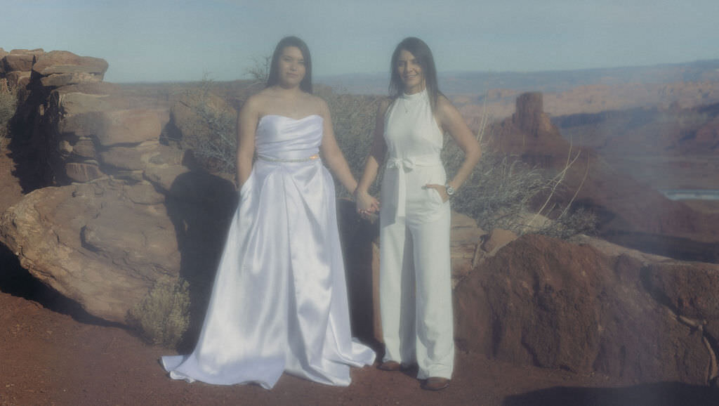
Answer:
<svg viewBox="0 0 719 406"><path fill-rule="evenodd" d="M125 322L149 289L180 273L201 292L208 282L194 275L214 268L235 191L160 143L168 106L102 83L99 58L13 50L0 66L13 70L0 78L28 80L18 155L33 158L18 165L41 168L40 186L59 186L7 209L0 241L32 275L106 320Z"/></svg>

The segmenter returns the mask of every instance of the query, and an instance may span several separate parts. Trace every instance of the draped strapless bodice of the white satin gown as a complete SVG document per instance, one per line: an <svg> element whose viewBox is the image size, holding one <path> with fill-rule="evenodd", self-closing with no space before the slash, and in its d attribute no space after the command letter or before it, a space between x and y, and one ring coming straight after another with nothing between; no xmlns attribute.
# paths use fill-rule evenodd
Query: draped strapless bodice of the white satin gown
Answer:
<svg viewBox="0 0 719 406"><path fill-rule="evenodd" d="M293 119L277 114L260 118L255 132L257 155L277 160L308 158L319 153L323 119L311 114Z"/></svg>

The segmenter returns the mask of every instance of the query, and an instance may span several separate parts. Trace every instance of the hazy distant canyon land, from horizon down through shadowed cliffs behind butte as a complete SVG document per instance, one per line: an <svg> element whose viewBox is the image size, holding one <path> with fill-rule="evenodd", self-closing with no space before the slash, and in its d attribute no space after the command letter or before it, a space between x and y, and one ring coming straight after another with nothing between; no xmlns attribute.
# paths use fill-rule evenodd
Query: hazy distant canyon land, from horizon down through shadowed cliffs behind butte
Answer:
<svg viewBox="0 0 719 406"><path fill-rule="evenodd" d="M319 78L357 94L387 94L388 75ZM546 72L440 73L440 89L472 130L511 117L525 92L562 137L657 191L719 190L719 60ZM691 204L691 202L690 202ZM699 208L715 211L719 204Z"/></svg>

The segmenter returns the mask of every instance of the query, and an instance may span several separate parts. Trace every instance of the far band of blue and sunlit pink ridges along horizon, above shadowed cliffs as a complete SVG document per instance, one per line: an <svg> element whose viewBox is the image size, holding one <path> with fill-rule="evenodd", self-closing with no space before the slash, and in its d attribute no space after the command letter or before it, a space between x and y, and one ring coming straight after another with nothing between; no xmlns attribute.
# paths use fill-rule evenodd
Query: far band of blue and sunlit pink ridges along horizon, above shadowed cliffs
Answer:
<svg viewBox="0 0 719 406"><path fill-rule="evenodd" d="M354 94L387 94L385 73L327 76L317 82ZM439 87L472 120L502 119L526 91L544 94L553 117L635 107L682 107L719 102L719 60L619 68L539 72L439 73Z"/></svg>

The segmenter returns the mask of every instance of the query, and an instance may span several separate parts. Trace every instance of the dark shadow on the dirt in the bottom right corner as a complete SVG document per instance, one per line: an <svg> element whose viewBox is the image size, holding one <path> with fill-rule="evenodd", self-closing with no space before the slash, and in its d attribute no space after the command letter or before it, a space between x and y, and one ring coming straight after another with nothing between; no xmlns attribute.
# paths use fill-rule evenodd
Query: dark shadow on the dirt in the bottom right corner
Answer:
<svg viewBox="0 0 719 406"><path fill-rule="evenodd" d="M503 406L691 406L719 405L719 389L659 382L620 388L552 387L506 397Z"/></svg>

